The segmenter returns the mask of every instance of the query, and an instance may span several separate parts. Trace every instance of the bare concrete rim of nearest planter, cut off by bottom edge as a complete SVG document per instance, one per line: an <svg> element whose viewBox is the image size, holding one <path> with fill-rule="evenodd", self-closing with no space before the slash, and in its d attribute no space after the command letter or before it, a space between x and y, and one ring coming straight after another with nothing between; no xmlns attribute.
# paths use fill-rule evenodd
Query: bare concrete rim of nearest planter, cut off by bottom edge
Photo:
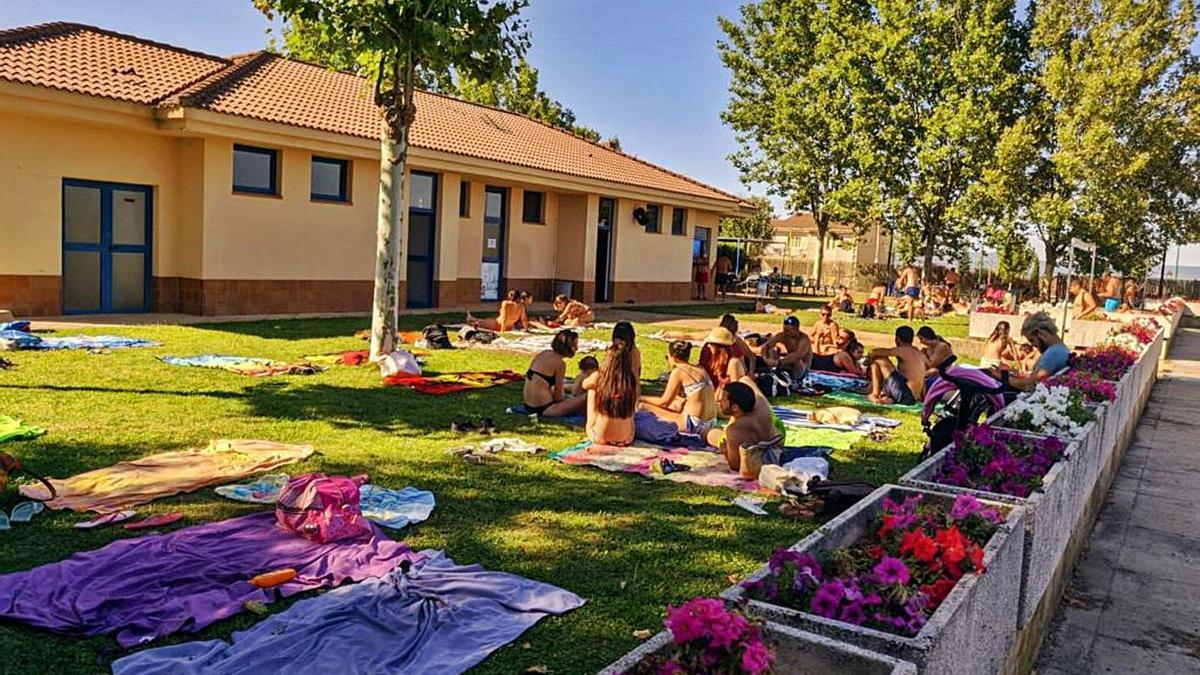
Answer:
<svg viewBox="0 0 1200 675"><path fill-rule="evenodd" d="M775 650L775 673L788 675L829 675L854 673L862 675L917 675L917 667L866 650L768 621L763 635ZM652 655L665 655L671 647L671 633L664 631L608 665L600 675L623 675Z"/></svg>

